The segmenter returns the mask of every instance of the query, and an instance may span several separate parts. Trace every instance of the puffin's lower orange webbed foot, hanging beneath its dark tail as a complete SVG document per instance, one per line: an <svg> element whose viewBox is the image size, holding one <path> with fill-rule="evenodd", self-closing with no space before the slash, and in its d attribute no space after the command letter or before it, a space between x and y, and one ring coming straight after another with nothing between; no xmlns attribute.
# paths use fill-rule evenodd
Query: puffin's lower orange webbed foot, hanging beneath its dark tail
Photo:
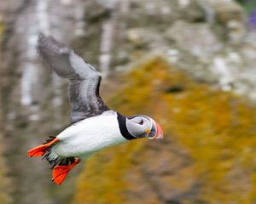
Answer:
<svg viewBox="0 0 256 204"><path fill-rule="evenodd" d="M52 181L54 181L55 184L62 184L64 179L67 177L67 173L69 173L69 171L73 169L73 167L78 165L80 161L81 160L79 158L76 158L75 161L73 161L73 163L67 166L66 165L55 166L52 172Z"/></svg>

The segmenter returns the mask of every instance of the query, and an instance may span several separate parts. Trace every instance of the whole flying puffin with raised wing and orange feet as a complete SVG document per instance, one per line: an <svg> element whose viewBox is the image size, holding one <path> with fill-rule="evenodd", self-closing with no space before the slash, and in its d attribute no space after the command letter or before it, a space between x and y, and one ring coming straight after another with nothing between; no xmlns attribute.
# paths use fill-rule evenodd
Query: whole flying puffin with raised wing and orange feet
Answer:
<svg viewBox="0 0 256 204"><path fill-rule="evenodd" d="M70 126L27 151L29 157L44 156L55 184L62 184L73 167L99 150L132 139L163 139L162 128L151 117L109 109L100 96L101 73L73 49L40 33L38 53L45 65L69 80Z"/></svg>

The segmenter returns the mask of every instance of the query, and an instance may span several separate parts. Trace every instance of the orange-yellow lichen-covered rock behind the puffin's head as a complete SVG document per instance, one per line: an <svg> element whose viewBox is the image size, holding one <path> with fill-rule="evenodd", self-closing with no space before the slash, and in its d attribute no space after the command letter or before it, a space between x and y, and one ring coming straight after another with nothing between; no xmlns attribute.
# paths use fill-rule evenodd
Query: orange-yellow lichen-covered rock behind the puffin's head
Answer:
<svg viewBox="0 0 256 204"><path fill-rule="evenodd" d="M256 201L253 105L193 82L160 57L126 78L109 104L126 115L154 117L165 142L138 139L91 157L74 204L162 203L171 195L182 203ZM182 89L170 91L177 86Z"/></svg>

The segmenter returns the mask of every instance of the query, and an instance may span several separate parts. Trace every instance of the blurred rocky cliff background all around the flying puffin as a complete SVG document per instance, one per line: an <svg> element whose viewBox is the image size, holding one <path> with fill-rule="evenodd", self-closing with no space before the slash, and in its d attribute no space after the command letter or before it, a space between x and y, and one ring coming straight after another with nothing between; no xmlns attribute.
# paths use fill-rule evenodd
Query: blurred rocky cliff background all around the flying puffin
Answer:
<svg viewBox="0 0 256 204"><path fill-rule="evenodd" d="M56 186L26 151L69 124L39 31L102 72L102 97L162 141L92 156ZM256 203L254 0L0 0L0 203Z"/></svg>

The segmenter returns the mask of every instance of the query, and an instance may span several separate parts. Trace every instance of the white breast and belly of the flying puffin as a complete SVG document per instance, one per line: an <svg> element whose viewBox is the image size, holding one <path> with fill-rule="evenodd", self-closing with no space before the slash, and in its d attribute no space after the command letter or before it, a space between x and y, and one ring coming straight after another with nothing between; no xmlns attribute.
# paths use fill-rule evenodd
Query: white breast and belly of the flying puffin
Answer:
<svg viewBox="0 0 256 204"><path fill-rule="evenodd" d="M88 156L97 150L127 141L120 131L117 114L104 112L67 127L58 136L53 151L58 156Z"/></svg>

